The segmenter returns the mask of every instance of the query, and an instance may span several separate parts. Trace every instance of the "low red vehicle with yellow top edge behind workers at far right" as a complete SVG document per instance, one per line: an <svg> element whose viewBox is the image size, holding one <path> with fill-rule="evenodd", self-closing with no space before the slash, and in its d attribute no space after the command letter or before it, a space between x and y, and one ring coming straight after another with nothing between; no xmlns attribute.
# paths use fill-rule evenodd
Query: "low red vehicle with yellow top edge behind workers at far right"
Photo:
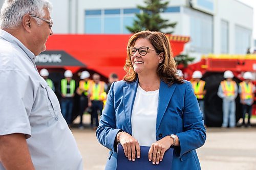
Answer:
<svg viewBox="0 0 256 170"><path fill-rule="evenodd" d="M217 91L223 78L225 70L231 70L234 74L234 81L239 84L243 81L243 73L250 71L254 75L253 83L256 85L256 55L207 55L203 56L198 63L190 64L183 68L184 77L190 80L195 70L200 70L203 80L206 81L205 114L206 124L209 127L220 127L222 124L222 100L218 97ZM255 95L256 96L256 95ZM256 115L256 98L252 108L252 114ZM240 97L236 99L236 119L242 117L242 106ZM208 120L208 122L207 122Z"/></svg>

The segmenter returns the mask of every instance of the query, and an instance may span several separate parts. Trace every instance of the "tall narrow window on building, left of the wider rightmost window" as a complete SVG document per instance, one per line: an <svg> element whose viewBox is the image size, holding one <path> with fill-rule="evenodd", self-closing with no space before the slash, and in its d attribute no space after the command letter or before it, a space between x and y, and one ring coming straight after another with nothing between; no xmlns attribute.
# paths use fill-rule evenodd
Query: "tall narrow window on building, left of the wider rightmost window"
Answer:
<svg viewBox="0 0 256 170"><path fill-rule="evenodd" d="M222 54L228 54L229 48L228 48L228 39L229 39L229 31L228 31L228 22L222 20L221 21L221 53Z"/></svg>

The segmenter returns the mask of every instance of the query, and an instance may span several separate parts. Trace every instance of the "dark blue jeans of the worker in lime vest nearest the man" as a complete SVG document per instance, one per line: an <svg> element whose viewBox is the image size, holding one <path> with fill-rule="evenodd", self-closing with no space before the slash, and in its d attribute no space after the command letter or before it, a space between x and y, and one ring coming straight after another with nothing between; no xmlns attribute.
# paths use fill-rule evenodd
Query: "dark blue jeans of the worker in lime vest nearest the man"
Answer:
<svg viewBox="0 0 256 170"><path fill-rule="evenodd" d="M67 124L70 125L72 122L73 98L62 98L60 106L63 117L65 118Z"/></svg>

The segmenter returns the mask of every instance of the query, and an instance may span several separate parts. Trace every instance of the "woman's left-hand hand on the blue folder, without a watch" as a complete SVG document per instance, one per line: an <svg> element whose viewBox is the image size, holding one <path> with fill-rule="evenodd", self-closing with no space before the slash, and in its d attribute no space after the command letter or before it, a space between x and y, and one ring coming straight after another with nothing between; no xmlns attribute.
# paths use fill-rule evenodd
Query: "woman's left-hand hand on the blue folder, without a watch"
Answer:
<svg viewBox="0 0 256 170"><path fill-rule="evenodd" d="M120 133L120 134L119 134ZM126 132L119 132L117 134L117 141L120 141L120 144L123 147L125 156L131 161L135 161L136 153L137 158L140 158L140 145L138 140Z"/></svg>

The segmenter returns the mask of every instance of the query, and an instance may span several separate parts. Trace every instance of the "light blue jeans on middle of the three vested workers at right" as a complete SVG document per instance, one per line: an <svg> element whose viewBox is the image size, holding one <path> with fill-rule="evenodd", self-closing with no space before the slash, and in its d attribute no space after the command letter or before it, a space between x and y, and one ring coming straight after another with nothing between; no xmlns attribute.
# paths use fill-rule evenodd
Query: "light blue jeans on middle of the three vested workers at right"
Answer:
<svg viewBox="0 0 256 170"><path fill-rule="evenodd" d="M234 126L236 126L236 102L234 100L229 101L229 100L223 99L222 109L223 109L222 127L228 126L228 120L229 120L230 128L233 128Z"/></svg>

